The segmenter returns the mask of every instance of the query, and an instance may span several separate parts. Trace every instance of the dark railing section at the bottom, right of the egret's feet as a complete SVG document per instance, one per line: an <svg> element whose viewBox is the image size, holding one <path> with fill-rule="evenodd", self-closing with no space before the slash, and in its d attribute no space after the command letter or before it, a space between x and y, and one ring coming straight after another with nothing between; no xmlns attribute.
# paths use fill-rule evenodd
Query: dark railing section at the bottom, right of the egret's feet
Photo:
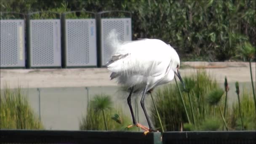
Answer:
<svg viewBox="0 0 256 144"><path fill-rule="evenodd" d="M165 132L163 144L256 144L255 131Z"/></svg>

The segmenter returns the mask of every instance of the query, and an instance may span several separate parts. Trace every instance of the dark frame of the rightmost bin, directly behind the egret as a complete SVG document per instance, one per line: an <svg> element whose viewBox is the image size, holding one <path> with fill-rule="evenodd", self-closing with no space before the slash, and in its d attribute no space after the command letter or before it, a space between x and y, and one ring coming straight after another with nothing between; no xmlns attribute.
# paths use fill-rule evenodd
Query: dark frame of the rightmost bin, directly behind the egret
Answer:
<svg viewBox="0 0 256 144"><path fill-rule="evenodd" d="M118 17L115 17L115 18L103 18L102 14L105 14L105 13L124 13L128 16L126 16L125 18L118 18ZM128 27L129 31L130 31L130 35L131 37L124 37L124 40L132 40L132 20L131 20L131 12L128 12L128 11L102 11L102 12L99 12L97 13L97 49L98 49L98 67L105 67L105 63L107 61L104 61L104 57L105 57L105 53L104 53L104 33L103 33L103 24L102 24L102 21L112 21L112 20L118 20L118 21L124 21L124 33L125 31L127 31L127 25L128 26L131 26L131 27ZM126 23L125 21L129 21L128 23Z"/></svg>

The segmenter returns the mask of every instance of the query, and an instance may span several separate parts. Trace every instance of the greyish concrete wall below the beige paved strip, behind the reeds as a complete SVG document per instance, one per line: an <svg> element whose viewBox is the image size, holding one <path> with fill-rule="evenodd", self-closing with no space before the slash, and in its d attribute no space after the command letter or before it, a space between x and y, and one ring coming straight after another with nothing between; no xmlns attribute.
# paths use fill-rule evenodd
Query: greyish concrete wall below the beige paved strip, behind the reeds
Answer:
<svg viewBox="0 0 256 144"><path fill-rule="evenodd" d="M175 83L175 82L171 82ZM219 83L221 87L223 83ZM163 85L164 86L164 85ZM242 89L250 88L251 83L240 83ZM229 83L229 104L233 101L237 101L235 94L235 83ZM37 88L22 88L24 94L27 94L29 103L32 109L41 117L45 129L52 130L78 130L79 122L82 115L86 114L87 109L87 90L85 87L78 88L40 88L40 105L39 105L39 91ZM157 89L155 90L157 91ZM130 117L131 124L131 113L127 104L128 93L120 92L117 86L104 86L104 87L88 87L89 100L93 99L95 94L109 94L112 98L115 107L122 107L128 117ZM241 91L242 93L242 91ZM154 96L154 95L153 95ZM141 97L141 96L140 96ZM139 98L140 100L141 98ZM133 101L133 108L135 99ZM146 97L146 108L150 115L150 107L152 99L150 96ZM39 112L40 107L40 112ZM143 125L147 125L147 120L144 116L139 105L139 120Z"/></svg>

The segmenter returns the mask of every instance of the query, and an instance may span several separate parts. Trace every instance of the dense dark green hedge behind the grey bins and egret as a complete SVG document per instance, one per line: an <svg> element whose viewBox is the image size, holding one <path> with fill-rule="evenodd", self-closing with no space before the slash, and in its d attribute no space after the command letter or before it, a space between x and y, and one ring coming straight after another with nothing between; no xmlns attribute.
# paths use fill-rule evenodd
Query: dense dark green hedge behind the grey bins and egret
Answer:
<svg viewBox="0 0 256 144"><path fill-rule="evenodd" d="M256 45L255 0L1 0L0 8L19 13L131 11L133 39L159 38L176 48L183 60L234 59L240 53L237 45ZM81 15L72 13L70 18Z"/></svg>

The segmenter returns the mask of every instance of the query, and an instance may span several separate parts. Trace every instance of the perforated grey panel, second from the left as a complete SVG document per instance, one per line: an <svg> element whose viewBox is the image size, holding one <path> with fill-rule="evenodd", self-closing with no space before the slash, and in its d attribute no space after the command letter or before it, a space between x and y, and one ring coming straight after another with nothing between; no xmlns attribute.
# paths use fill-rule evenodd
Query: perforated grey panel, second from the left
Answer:
<svg viewBox="0 0 256 144"><path fill-rule="evenodd" d="M31 67L61 67L60 20L30 20Z"/></svg>

